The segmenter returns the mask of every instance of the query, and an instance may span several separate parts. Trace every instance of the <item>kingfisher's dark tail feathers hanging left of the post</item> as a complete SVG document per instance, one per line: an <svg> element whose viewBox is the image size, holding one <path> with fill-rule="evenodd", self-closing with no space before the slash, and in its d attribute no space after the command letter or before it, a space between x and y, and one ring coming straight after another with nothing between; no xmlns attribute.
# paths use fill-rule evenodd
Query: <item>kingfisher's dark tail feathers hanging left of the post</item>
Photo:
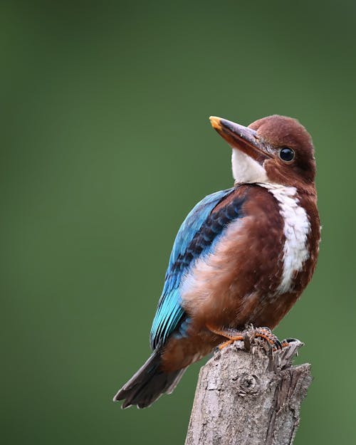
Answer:
<svg viewBox="0 0 356 445"><path fill-rule="evenodd" d="M160 368L161 353L152 352L145 365L124 384L114 397L114 402L125 399L122 408L137 405L138 408L150 407L161 394L170 394L177 386L185 369L164 372Z"/></svg>

